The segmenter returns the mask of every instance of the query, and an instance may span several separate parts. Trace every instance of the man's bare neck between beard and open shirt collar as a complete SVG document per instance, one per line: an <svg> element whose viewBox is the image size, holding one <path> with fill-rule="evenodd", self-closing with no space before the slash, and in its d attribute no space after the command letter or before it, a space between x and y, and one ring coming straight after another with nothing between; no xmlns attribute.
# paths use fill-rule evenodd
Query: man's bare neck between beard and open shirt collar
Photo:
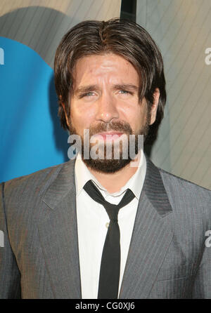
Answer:
<svg viewBox="0 0 211 313"><path fill-rule="evenodd" d="M136 173L139 166L139 158L140 154L134 161L131 161L127 166L124 166L124 168L115 173L101 173L94 171L92 168L89 168L89 171L95 176L98 182L112 194L113 192L119 192L128 180L132 178L132 175Z"/></svg>

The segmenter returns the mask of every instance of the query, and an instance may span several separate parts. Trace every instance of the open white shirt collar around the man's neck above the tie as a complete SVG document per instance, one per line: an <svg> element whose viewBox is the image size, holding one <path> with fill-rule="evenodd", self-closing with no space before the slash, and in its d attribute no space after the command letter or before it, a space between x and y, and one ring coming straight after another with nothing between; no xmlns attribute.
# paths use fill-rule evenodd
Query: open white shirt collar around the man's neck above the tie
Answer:
<svg viewBox="0 0 211 313"><path fill-rule="evenodd" d="M141 190L143 187L143 181L145 179L146 175L146 157L143 154L143 150L140 151L140 159L139 159L139 166L136 170L136 173L132 175L132 178L130 178L127 183L120 189L119 192L114 192L113 194L110 194L101 184L98 182L98 180L94 177L94 175L91 174L87 166L84 164L84 161L82 161L82 156L78 153L77 158L75 161L75 185L76 185L76 195L78 196L82 189L84 188L84 185L89 181L92 180L98 189L100 189L101 193L105 197L106 195L110 195L113 197L118 197L120 194L125 192L128 188L132 190L134 193L136 199L139 199L141 195Z"/></svg>

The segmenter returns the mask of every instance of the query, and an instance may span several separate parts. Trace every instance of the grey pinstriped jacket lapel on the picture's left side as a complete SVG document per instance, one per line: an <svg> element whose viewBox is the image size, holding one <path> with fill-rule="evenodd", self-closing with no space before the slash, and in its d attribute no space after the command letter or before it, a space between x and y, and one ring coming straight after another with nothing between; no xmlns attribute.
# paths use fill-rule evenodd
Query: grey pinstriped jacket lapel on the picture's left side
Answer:
<svg viewBox="0 0 211 313"><path fill-rule="evenodd" d="M55 298L81 298L74 170L75 161L64 164L42 197L39 237Z"/></svg>

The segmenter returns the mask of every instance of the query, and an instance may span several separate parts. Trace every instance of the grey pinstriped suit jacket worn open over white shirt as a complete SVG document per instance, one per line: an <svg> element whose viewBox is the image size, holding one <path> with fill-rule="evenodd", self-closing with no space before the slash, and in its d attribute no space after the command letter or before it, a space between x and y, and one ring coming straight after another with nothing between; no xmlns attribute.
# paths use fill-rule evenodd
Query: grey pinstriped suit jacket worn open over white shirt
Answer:
<svg viewBox="0 0 211 313"><path fill-rule="evenodd" d="M1 184L0 298L81 298L75 161ZM147 159L122 299L211 298L211 192Z"/></svg>

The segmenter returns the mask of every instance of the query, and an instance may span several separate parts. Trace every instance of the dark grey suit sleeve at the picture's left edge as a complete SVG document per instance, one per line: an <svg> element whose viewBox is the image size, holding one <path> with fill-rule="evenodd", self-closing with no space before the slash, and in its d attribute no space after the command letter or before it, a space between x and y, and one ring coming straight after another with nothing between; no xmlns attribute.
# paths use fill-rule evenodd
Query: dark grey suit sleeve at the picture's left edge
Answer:
<svg viewBox="0 0 211 313"><path fill-rule="evenodd" d="M0 187L0 299L18 299L21 298L20 271L8 237L4 182Z"/></svg>

